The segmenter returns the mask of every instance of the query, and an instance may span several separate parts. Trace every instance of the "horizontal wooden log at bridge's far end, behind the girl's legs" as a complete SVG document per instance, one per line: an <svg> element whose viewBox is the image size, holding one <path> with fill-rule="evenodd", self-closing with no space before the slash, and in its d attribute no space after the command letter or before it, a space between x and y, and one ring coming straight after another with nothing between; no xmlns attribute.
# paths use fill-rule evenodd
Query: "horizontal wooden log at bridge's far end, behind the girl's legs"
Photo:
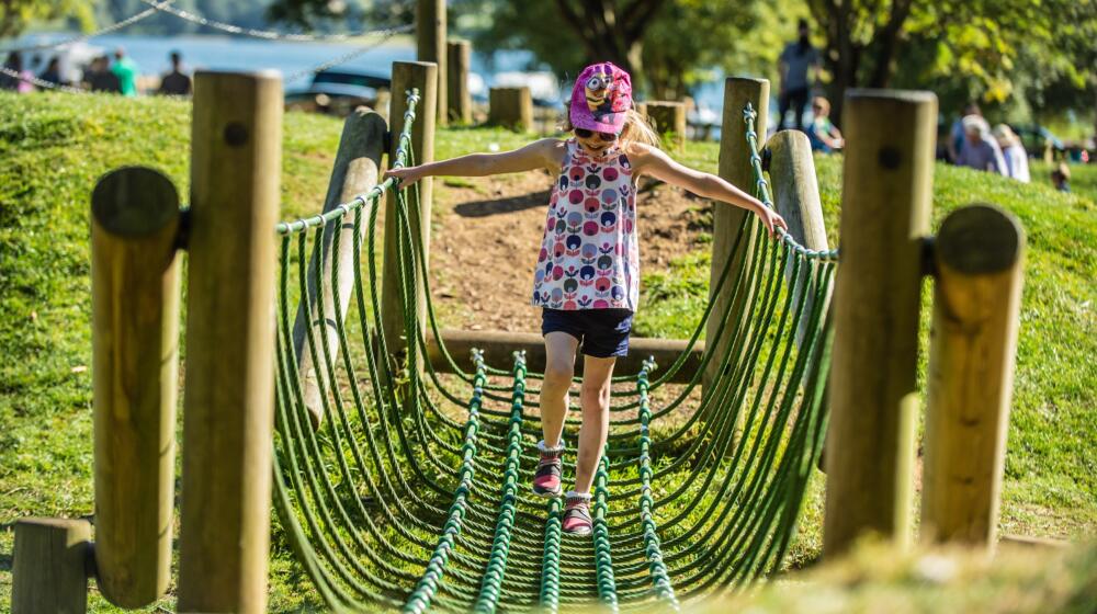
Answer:
<svg viewBox="0 0 1097 614"><path fill-rule="evenodd" d="M516 351L525 352L525 365L530 371L544 372L545 367L545 341L544 338L534 332L504 332L504 331L464 331L464 330L442 330L442 340L445 349L457 366L466 372L476 369L470 357L470 351L474 348L484 351L484 361L494 366L502 365L505 368L513 360ZM686 351L688 342L678 339L649 339L644 337L633 337L629 341L629 355L619 357L614 367L614 373L631 374L640 373L643 362L648 356L655 357L660 371L670 367L678 356ZM701 354L704 352L704 342L698 341L686 363L678 369L674 383L687 383L701 366ZM450 364L442 355L438 345L438 340L431 333L427 337L427 356L434 368L449 373ZM583 373L583 361L575 365L576 375ZM656 372L653 377L658 377Z"/></svg>

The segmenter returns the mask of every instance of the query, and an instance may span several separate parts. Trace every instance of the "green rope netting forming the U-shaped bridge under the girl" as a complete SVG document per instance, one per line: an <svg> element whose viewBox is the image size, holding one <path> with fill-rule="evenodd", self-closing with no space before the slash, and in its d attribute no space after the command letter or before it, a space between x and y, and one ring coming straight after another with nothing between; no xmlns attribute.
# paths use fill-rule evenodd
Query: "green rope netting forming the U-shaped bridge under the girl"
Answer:
<svg viewBox="0 0 1097 614"><path fill-rule="evenodd" d="M407 102L393 167L414 163L418 95ZM765 192L761 166L753 167ZM753 218L744 221L735 241L744 265L735 274L724 265L713 287L730 300L720 309L710 302L690 337L692 349L715 323L697 373L670 384L683 353L663 373L648 360L640 373L613 378L593 536L574 538L562 534L561 502L529 488L543 374L529 372L521 354L512 365L487 365L474 352L475 372L460 369L430 300L418 193L397 187L385 181L278 228L275 508L333 611L555 612L592 602L678 610L781 567L826 429L834 253L769 240ZM385 193L396 218L402 339L386 338L381 322ZM325 246L340 253L348 239L354 284L344 308L321 293L340 278L338 258L325 268ZM418 292L427 295L421 318ZM299 351L295 317L314 323ZM421 321L445 368L428 360ZM318 428L298 353L317 368ZM706 369L716 375L701 386ZM572 447L577 427L577 419L566 424Z"/></svg>

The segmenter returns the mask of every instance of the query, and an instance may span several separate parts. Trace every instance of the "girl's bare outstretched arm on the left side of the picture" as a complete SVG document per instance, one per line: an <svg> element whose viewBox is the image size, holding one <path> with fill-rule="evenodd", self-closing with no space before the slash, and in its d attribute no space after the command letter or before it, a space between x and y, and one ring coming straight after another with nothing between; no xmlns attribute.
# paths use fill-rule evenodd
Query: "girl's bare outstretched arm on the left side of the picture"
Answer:
<svg viewBox="0 0 1097 614"><path fill-rule="evenodd" d="M404 167L385 171L385 179L396 177L403 185L410 185L425 177L484 177L535 169L559 170L564 141L556 138L535 140L525 147L500 154L470 154L449 160L439 160L418 167Z"/></svg>

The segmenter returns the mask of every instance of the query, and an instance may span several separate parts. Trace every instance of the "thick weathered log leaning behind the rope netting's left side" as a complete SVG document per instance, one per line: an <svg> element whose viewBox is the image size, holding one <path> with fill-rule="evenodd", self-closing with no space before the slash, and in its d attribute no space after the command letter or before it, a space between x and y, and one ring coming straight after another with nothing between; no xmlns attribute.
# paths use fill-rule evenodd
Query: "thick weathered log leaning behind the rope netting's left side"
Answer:
<svg viewBox="0 0 1097 614"><path fill-rule="evenodd" d="M381 168L381 156L385 148L385 121L373 111L359 107L343 123L342 136L339 139L339 151L336 154L335 168L331 170L331 180L328 182L328 194L324 202L324 213L335 209L343 203L351 202L359 194L369 192L377 184L378 169ZM364 207L364 215L369 217L369 207ZM332 253L336 232L339 237L339 253ZM364 236L364 234L363 234ZM314 252L308 263L308 295L313 311L313 337L316 341L316 351L321 355L324 364L313 364L313 355L308 349L307 321L305 318L305 305L301 304L297 309L297 319L293 325L293 348L297 356L297 373L302 380L302 395L305 399L305 407L308 409L314 427L319 427L324 419L324 402L320 398L320 382L325 383L325 389L330 389L330 382L327 380L327 364L337 364L339 356L339 329L333 318L336 317L335 297L339 297L339 312L346 318L347 307L354 288L354 225L353 216L348 216L341 220L330 221L325 228L323 250L324 268L320 272L320 280L313 275L316 270L317 253ZM335 260L339 261L339 287L338 293L331 287L331 265ZM317 283L319 282L319 283ZM319 289L317 289L319 288ZM326 321L320 321L320 303L323 297L323 314ZM323 356L324 343L320 336L326 334L328 339L329 356Z"/></svg>

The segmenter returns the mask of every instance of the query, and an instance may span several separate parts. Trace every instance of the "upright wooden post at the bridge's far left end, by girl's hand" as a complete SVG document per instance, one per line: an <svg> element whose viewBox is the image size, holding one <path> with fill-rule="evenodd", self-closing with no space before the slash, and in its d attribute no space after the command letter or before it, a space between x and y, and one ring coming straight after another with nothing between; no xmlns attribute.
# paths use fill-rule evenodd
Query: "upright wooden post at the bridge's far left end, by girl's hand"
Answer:
<svg viewBox="0 0 1097 614"><path fill-rule="evenodd" d="M396 149L399 145L398 135L404 129L404 112L407 110L405 92L418 89L420 100L416 106L416 118L411 126L411 148L419 164L434 160L434 72L433 64L425 61L393 62L393 121L392 149L388 151L389 164L396 160ZM430 261L430 203L432 186L430 178L419 180L419 202L415 201L415 192L408 191L408 206L419 207L421 226L419 228L422 251ZM408 212L410 215L410 212ZM400 310L399 262L396 243L396 203L394 198L385 200L385 261L382 275L381 320L388 350L396 354L406 348L404 336L404 314ZM419 330L426 332L427 297L422 284L416 289L416 306L419 317Z"/></svg>

